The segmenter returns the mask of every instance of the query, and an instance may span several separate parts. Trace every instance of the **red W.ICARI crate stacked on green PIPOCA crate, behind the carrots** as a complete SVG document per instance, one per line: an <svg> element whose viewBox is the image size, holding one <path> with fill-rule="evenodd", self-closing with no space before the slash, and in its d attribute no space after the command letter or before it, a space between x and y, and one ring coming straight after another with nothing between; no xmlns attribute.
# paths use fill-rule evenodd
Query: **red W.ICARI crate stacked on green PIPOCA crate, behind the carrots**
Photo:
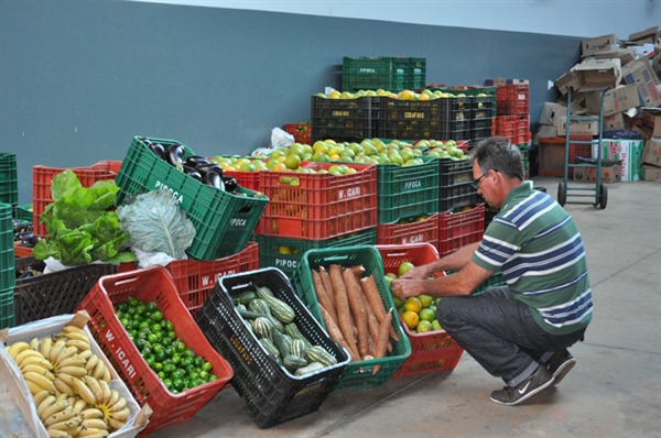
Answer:
<svg viewBox="0 0 661 438"><path fill-rule="evenodd" d="M346 164L349 174L333 174L336 163L306 162L305 173L259 172L269 198L253 239L260 267L290 276L307 250L376 244L377 168Z"/></svg>

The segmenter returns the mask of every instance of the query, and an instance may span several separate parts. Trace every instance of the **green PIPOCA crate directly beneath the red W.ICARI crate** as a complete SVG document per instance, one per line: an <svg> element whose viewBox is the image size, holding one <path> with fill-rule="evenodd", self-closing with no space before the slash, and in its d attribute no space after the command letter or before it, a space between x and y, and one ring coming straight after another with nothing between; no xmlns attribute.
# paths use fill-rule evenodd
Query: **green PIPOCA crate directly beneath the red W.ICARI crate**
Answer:
<svg viewBox="0 0 661 438"><path fill-rule="evenodd" d="M257 234L254 240L259 244L260 267L278 267L291 276L296 271L305 251L361 244L373 245L377 243L377 228L324 240L290 239L267 234Z"/></svg>

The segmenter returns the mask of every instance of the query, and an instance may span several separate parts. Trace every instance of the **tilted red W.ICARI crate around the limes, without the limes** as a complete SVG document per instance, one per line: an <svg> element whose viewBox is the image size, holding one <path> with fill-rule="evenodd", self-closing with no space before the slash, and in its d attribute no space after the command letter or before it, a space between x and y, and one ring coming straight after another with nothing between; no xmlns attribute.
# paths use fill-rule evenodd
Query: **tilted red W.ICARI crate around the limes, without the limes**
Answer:
<svg viewBox="0 0 661 438"><path fill-rule="evenodd" d="M176 336L213 365L215 382L173 394L147 364L115 314L113 304L129 297L156 302L163 316L174 324ZM178 298L176 286L164 267L154 266L107 275L97 282L77 310L87 310L88 327L110 363L140 406L153 410L144 436L165 426L189 419L232 377L229 362L209 344Z"/></svg>

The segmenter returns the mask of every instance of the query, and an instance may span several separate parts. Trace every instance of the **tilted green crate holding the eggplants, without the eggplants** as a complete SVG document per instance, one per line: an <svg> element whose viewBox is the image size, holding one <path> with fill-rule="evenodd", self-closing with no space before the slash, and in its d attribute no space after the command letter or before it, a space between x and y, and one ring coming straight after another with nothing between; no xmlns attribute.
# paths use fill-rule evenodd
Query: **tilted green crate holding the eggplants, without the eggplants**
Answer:
<svg viewBox="0 0 661 438"><path fill-rule="evenodd" d="M183 144L174 140L149 140L164 147ZM185 151L185 156L194 155L187 146ZM269 202L263 195L256 197L256 191L240 186L237 190L241 195L232 195L199 183L158 157L140 136L133 138L115 183L120 187L118 206L129 195L171 190L195 226L195 239L187 253L198 260L220 259L241 251Z"/></svg>

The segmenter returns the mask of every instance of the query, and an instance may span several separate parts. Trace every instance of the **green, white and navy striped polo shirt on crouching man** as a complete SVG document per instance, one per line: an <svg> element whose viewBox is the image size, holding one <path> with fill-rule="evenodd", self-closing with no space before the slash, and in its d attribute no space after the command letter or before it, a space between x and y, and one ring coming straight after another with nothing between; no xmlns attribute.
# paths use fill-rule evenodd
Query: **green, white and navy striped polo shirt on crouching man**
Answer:
<svg viewBox="0 0 661 438"><path fill-rule="evenodd" d="M508 194L472 260L502 271L513 297L533 309L548 332L566 335L589 324L592 288L581 233L560 204L531 182Z"/></svg>

